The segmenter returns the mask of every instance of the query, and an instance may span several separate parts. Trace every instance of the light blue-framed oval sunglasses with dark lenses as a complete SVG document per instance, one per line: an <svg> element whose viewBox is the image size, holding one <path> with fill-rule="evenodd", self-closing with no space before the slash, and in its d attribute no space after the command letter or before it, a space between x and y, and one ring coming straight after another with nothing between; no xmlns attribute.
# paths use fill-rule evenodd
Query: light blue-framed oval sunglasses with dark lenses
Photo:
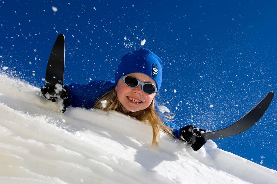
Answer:
<svg viewBox="0 0 277 184"><path fill-rule="evenodd" d="M153 84L141 82L140 80L138 80L134 76L125 75L125 76L121 76L120 78L122 78L124 83L126 85L128 85L129 87L131 87L131 88L135 88L138 85L141 85L142 91L146 94L153 94L153 93L156 93L158 91L157 88Z"/></svg>

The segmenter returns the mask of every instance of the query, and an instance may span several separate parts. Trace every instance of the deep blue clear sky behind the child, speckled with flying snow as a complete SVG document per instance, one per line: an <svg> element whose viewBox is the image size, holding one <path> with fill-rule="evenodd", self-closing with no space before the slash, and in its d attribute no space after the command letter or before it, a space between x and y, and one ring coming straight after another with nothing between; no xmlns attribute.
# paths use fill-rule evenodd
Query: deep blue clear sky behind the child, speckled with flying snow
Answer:
<svg viewBox="0 0 277 184"><path fill-rule="evenodd" d="M277 91L276 8L276 1L1 0L0 68L43 85L54 41L64 33L65 84L113 80L121 57L146 39L142 47L163 61L159 102L177 124L216 130ZM273 99L250 130L215 142L277 170L276 112Z"/></svg>

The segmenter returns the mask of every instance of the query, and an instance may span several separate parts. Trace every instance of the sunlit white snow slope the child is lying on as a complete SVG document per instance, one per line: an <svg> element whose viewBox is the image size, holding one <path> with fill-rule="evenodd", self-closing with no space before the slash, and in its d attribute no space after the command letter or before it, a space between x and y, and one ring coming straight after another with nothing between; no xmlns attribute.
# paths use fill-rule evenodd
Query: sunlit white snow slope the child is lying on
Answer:
<svg viewBox="0 0 277 184"><path fill-rule="evenodd" d="M276 183L268 169L208 141L199 151L117 112L72 108L0 74L0 183Z"/></svg>

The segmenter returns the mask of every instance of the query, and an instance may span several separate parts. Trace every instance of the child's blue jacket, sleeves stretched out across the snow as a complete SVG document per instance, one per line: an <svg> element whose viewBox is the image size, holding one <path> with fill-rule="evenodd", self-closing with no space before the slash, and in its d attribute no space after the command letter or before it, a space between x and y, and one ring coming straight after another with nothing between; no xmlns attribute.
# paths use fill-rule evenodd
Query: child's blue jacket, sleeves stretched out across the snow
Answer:
<svg viewBox="0 0 277 184"><path fill-rule="evenodd" d="M91 81L89 84L70 84L69 90L69 105L72 107L92 108L93 105L105 94L107 91L115 88L114 81ZM156 104L156 107L157 104ZM158 108L157 108L158 109ZM160 111L158 111L161 113ZM162 117L161 117L162 118ZM174 123L163 120L164 124L172 129L175 138L180 138L181 127Z"/></svg>

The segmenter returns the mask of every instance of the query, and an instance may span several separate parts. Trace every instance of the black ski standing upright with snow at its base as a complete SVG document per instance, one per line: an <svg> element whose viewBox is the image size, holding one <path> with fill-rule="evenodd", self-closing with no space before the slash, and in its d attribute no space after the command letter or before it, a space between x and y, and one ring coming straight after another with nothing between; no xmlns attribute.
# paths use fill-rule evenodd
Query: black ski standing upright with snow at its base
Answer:
<svg viewBox="0 0 277 184"><path fill-rule="evenodd" d="M65 37L59 34L48 59L45 83L51 95L63 89Z"/></svg>

